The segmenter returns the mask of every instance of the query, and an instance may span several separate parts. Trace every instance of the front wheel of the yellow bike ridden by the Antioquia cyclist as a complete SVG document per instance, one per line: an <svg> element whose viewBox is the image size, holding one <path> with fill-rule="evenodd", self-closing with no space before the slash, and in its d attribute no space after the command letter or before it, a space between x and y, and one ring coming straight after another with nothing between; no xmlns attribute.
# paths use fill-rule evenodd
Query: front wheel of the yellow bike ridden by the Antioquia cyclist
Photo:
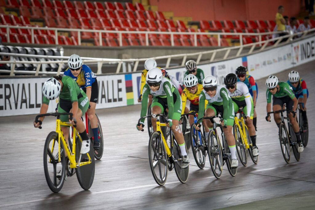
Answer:
<svg viewBox="0 0 315 210"><path fill-rule="evenodd" d="M153 178L158 185L163 185L166 182L168 172L167 154L159 133L151 134L148 149Z"/></svg>

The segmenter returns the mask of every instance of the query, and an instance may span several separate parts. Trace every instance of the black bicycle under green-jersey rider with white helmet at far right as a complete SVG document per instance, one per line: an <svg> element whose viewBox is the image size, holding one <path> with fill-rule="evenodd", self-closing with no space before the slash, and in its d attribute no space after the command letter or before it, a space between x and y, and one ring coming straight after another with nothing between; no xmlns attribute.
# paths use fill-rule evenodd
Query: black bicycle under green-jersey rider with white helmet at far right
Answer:
<svg viewBox="0 0 315 210"><path fill-rule="evenodd" d="M271 111L267 113L267 116L273 113L280 113L281 123L279 126L279 140L281 146L281 152L284 157L285 162L290 162L291 150L293 150L294 157L297 161L300 161L300 153L298 152L298 144L296 141L296 136L293 131L292 125L290 123L288 112L287 116L283 116L284 111L292 111L292 109L282 109L278 111ZM284 120L287 120L287 126L285 125ZM271 121L269 121L271 122Z"/></svg>

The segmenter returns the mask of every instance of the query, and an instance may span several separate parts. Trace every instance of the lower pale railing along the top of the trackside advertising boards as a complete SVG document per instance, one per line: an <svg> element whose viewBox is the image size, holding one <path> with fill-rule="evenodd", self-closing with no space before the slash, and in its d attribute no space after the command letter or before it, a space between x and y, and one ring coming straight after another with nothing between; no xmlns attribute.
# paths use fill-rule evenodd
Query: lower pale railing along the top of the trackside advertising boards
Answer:
<svg viewBox="0 0 315 210"><path fill-rule="evenodd" d="M181 65L172 66L172 68L183 67L186 63L187 57L196 56L196 55L198 55L198 58L196 60L197 64L215 62L215 61L226 60L226 59L233 59L233 58L236 58L239 56L245 56L245 55L252 54L253 52L263 51L263 50L270 49L270 48L275 48L279 45L279 43L283 39L287 39L287 40L282 42L282 43L287 44L289 42L292 42L293 37L300 36L301 38L303 38L308 33L312 33L314 31L315 31L315 28L307 30L307 31L298 32L295 34L289 34L286 36L277 37L274 39L268 39L265 41L260 41L257 43L250 43L250 44L239 45L239 46L234 46L234 47L227 47L227 48L219 48L219 49L214 49L214 50L209 50L209 51L201 51L201 52L196 52L196 53L158 56L158 57L152 57L152 59L155 59L155 60L167 59L166 65L164 67L166 69L169 68L170 61L173 58L182 58L182 62L181 62ZM270 44L270 43L273 43L273 44L268 46L268 44ZM256 47L258 47L258 48L256 49ZM249 49L249 50L245 53L242 53L244 49L247 49L247 50ZM230 55L232 50L237 50L237 53L235 55ZM223 53L224 56L219 57L219 58L215 58L219 52L224 52ZM205 54L212 54L210 60L200 62L202 56ZM0 70L0 73L1 72L10 73L10 76L14 76L14 74L33 74L35 76L38 76L38 75L59 75L59 74L62 74L62 72L61 72L62 66L65 63L67 63L67 60L69 58L68 56L29 55L29 54L15 54L15 53L1 53L1 52L0 52L0 55L9 55L9 56L13 56L13 57L32 57L32 58L37 58L37 59L54 59L54 61L16 61L16 60L0 61L0 64L11 64L11 70ZM106 58L82 57L82 59L83 59L84 64L97 64L97 73L96 74L102 74L102 65L103 64L118 64L117 69L116 69L116 73L120 73L120 69L121 69L123 63L129 63L129 64L131 63L131 64L133 64L133 70L132 71L135 72L135 71L137 71L139 62L145 61L149 58L106 59ZM59 65L57 72L40 71L41 65L53 64L53 63ZM36 71L17 71L17 70L15 70L16 64L37 64L37 69L36 69Z"/></svg>

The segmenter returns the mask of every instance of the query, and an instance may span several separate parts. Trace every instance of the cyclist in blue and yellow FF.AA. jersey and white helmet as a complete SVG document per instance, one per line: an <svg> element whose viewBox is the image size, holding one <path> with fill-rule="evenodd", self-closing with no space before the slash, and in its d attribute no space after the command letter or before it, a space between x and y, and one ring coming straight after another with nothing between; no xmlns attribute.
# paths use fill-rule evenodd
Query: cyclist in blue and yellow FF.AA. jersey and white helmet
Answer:
<svg viewBox="0 0 315 210"><path fill-rule="evenodd" d="M87 113L94 135L93 148L98 149L100 148L100 141L98 139L99 130L97 117L95 115L95 107L98 100L98 83L96 75L91 71L89 66L82 65L82 59L77 54L73 54L69 57L68 68L63 75L72 77L89 98L90 108Z"/></svg>

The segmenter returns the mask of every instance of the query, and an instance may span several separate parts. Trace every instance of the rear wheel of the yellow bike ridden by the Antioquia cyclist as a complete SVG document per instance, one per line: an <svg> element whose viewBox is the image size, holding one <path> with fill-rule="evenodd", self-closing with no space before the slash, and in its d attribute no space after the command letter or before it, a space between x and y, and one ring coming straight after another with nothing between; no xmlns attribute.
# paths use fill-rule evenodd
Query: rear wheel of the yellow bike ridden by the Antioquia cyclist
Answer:
<svg viewBox="0 0 315 210"><path fill-rule="evenodd" d="M174 136L173 136L173 138L174 138ZM186 183L186 181L188 179L189 165L186 168L181 168L181 164L182 164L181 152L180 152L179 145L175 141L175 138L174 138L172 149L173 149L172 154L175 158L174 168L175 168L176 176L177 176L178 180L180 180L181 183ZM186 152L188 154L186 145L185 145L185 149L186 149Z"/></svg>

